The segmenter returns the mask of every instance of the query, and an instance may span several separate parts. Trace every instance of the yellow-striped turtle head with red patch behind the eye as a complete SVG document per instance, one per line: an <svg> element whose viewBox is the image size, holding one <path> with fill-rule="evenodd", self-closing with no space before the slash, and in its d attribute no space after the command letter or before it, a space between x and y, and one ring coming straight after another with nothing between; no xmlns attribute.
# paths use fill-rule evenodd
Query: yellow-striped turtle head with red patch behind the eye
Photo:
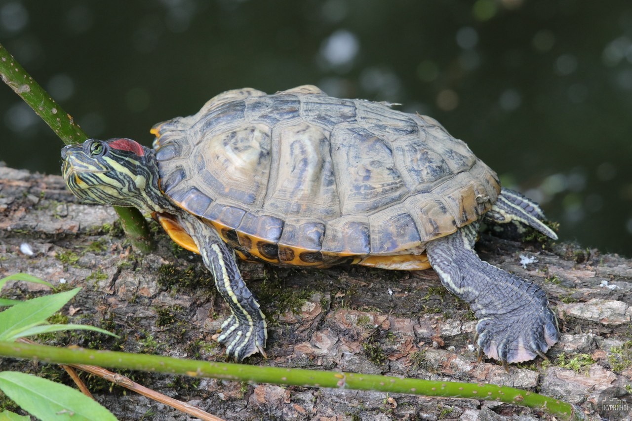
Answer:
<svg viewBox="0 0 632 421"><path fill-rule="evenodd" d="M155 210L161 193L154 152L125 138L88 139L61 150L68 189L85 202Z"/></svg>

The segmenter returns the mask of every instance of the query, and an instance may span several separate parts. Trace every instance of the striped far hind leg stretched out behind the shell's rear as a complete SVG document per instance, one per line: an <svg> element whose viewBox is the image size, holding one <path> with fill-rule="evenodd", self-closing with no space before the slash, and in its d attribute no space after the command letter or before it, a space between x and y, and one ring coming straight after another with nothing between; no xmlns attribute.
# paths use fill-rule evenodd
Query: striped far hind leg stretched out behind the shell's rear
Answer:
<svg viewBox="0 0 632 421"><path fill-rule="evenodd" d="M557 234L545 223L545 216L540 206L525 195L502 188L498 200L492 209L485 214L485 220L493 223L505 224L512 221L520 222L537 229L553 240Z"/></svg>

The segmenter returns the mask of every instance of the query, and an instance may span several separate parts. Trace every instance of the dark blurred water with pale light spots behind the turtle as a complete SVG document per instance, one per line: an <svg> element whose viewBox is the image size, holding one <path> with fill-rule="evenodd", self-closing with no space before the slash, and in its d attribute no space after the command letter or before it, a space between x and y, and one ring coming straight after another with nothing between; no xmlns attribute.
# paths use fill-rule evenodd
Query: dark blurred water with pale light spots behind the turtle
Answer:
<svg viewBox="0 0 632 421"><path fill-rule="evenodd" d="M437 118L540 201L562 240L632 256L632 3L0 1L0 42L91 137L230 88L305 83ZM59 174L61 141L0 87L0 160Z"/></svg>

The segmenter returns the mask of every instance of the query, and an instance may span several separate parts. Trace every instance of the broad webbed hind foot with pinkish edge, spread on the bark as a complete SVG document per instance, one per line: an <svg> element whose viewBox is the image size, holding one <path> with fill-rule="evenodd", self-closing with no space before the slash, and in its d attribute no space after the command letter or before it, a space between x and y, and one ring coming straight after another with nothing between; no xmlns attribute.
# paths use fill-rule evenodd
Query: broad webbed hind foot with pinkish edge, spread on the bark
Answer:
<svg viewBox="0 0 632 421"><path fill-rule="evenodd" d="M479 356L507 363L547 358L544 353L557 342L557 319L549 308L534 316L528 313L489 315L477 324Z"/></svg>

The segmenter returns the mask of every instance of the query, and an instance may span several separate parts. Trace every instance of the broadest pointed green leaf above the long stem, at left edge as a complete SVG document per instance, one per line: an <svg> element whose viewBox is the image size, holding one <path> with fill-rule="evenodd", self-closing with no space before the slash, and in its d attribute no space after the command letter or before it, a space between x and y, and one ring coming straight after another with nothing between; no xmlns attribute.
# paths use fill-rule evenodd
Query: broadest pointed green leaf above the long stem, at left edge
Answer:
<svg viewBox="0 0 632 421"><path fill-rule="evenodd" d="M0 313L0 340L8 340L6 338L11 338L25 328L46 322L80 289L31 298L7 308Z"/></svg>

